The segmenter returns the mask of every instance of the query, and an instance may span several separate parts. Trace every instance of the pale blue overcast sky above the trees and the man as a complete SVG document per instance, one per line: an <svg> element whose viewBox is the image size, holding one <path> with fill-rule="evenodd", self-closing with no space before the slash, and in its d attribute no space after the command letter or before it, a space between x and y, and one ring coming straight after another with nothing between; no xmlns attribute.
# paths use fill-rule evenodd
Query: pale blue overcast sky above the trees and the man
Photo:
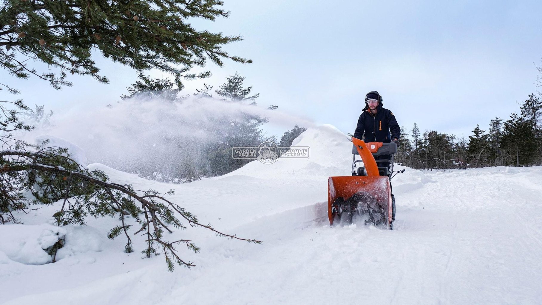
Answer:
<svg viewBox="0 0 542 305"><path fill-rule="evenodd" d="M203 83L214 89L236 71L260 93L261 105L333 124L352 132L366 92L378 90L384 107L411 130L468 136L508 118L538 88L542 65L542 1L274 1L224 0L230 18L197 21L198 29L241 34L230 54L253 64L209 64L213 76L185 82L185 93ZM18 81L0 71L2 83L23 90L25 103L59 113L103 107L126 94L134 71L99 59L110 84L70 77L55 91L36 78ZM197 71L197 70L196 70ZM153 72L154 77L167 76ZM7 79L7 81L4 81ZM13 100L5 90L0 100ZM292 122L292 126L296 122ZM290 129L282 128L282 129Z"/></svg>

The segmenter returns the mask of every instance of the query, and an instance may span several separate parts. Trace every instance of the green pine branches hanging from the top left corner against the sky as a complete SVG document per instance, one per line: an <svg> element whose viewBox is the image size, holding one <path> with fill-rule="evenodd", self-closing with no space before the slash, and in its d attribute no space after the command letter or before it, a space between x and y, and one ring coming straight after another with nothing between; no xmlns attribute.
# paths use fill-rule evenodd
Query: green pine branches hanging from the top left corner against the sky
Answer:
<svg viewBox="0 0 542 305"><path fill-rule="evenodd" d="M6 47L11 53L8 55L0 49L0 65L24 78L41 76L55 87L69 82L55 81L55 72L41 74L33 68L25 68L28 75L17 73L22 65L13 59L30 55L60 72L69 69L66 62L75 63L86 68L84 71L70 69L70 73L92 75L100 82L106 78L96 74L99 69L94 63L87 65L93 49L136 70L157 68L173 74L176 79L184 74L176 67L204 66L205 59L219 66L223 65L220 58L250 63L249 59L230 56L221 50L224 44L241 41L241 36L198 31L188 23L189 18L228 17L229 12L217 8L221 5L221 1L203 4L183 0L143 1L137 5L130 2L80 5L75 1L8 1L0 10L0 20L7 23L2 24L0 47Z"/></svg>

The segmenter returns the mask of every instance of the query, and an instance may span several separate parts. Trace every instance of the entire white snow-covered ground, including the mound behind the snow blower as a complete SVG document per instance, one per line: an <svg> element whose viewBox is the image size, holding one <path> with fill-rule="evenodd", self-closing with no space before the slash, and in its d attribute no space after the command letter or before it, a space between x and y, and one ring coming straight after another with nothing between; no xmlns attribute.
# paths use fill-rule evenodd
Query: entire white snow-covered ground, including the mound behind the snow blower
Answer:
<svg viewBox="0 0 542 305"><path fill-rule="evenodd" d="M5 304L540 304L542 167L419 171L393 178L395 230L327 223L327 177L349 175L351 143L324 125L294 145L308 160L258 161L181 185L105 170L137 189L176 189L171 200L225 233L174 234L202 248L191 270L163 257L125 254L117 220L51 226L58 207L0 226L0 303ZM397 165L396 169L402 169ZM135 231L135 230L134 230ZM66 236L55 263L44 244Z"/></svg>

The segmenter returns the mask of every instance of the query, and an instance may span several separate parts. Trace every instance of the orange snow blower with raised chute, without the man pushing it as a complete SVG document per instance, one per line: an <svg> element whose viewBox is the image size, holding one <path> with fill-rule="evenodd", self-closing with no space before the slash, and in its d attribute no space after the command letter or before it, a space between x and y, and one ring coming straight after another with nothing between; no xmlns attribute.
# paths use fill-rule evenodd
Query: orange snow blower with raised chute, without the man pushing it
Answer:
<svg viewBox="0 0 542 305"><path fill-rule="evenodd" d="M365 224L385 226L391 230L395 220L395 197L391 194L390 180L397 144L365 143L354 137L351 141L352 176L330 177L328 180L330 224L335 217L341 223L351 224L357 214L365 218ZM356 160L357 155L361 160ZM375 156L382 155L391 155L391 160L375 160Z"/></svg>

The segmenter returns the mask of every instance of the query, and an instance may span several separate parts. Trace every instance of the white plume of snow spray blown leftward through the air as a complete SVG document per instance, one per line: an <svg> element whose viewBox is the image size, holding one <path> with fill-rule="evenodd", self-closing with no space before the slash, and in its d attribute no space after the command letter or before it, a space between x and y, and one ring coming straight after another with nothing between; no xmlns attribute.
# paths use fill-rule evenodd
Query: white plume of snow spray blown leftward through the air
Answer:
<svg viewBox="0 0 542 305"><path fill-rule="evenodd" d="M231 161L226 160L231 159L231 147L258 145L265 118L285 129L294 124L314 127L280 110L241 102L198 96L171 102L136 96L110 108L61 114L47 134L79 145L89 163L178 183L216 175L212 167L231 167L224 165Z"/></svg>

